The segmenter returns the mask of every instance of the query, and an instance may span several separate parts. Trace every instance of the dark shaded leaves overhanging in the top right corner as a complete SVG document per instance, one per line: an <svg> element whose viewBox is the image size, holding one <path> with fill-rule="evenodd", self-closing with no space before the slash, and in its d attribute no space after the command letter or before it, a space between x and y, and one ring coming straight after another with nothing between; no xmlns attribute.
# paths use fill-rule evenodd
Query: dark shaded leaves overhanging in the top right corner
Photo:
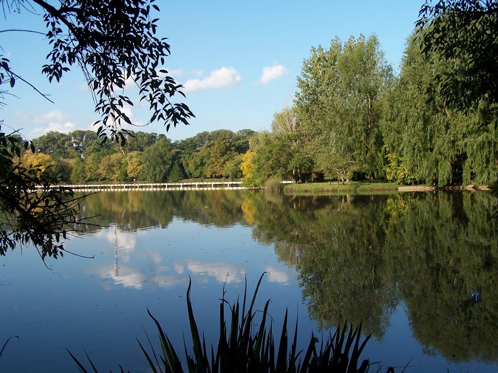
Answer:
<svg viewBox="0 0 498 373"><path fill-rule="evenodd" d="M485 100L498 103L498 2L496 0L426 0L416 22L421 49L451 61L437 76L445 104L460 110Z"/></svg>

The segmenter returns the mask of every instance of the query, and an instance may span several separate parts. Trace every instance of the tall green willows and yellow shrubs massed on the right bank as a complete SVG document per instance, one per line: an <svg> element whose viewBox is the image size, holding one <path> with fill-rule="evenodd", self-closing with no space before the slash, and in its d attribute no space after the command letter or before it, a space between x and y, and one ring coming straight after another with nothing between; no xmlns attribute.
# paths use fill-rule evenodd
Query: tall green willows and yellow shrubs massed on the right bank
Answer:
<svg viewBox="0 0 498 373"><path fill-rule="evenodd" d="M425 52L431 27L408 37L397 74L375 35L313 47L292 106L275 113L271 131L251 140L243 165L249 184L324 176L401 185L496 183L497 104L481 93L462 108L457 98L464 93L459 75L465 63ZM455 102L448 98L453 78L460 79ZM467 81L470 87L471 73Z"/></svg>

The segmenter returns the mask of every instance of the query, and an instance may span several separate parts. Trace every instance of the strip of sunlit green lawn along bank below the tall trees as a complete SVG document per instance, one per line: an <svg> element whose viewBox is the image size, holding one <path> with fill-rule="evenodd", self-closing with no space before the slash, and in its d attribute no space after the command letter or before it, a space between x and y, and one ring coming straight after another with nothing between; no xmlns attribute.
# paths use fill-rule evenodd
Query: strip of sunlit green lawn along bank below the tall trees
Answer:
<svg viewBox="0 0 498 373"><path fill-rule="evenodd" d="M397 191L398 185L395 183L389 183L382 180L370 181L359 181L359 182L349 182L348 184L342 184L335 182L323 182L323 183L305 183L305 184L287 184L284 187L285 193L290 194L321 194L321 193L372 193L372 192L386 192L386 191Z"/></svg>

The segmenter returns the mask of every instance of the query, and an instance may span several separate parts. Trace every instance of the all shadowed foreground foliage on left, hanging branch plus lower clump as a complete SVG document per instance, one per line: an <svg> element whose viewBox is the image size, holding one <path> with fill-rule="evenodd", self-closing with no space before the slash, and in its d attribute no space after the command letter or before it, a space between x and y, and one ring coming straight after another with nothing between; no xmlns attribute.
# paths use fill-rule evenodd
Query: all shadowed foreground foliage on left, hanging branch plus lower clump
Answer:
<svg viewBox="0 0 498 373"><path fill-rule="evenodd" d="M133 105L133 101L124 92L119 94L126 80L132 80L139 88L140 100L148 102L151 111L148 123L164 122L169 130L171 124L188 124L194 116L187 105L172 101L178 94L184 94L181 86L161 68L170 47L165 38L155 36L158 18L151 16L159 7L154 0L60 0L56 5L44 0L0 0L0 3L5 16L20 11L43 13L46 37L53 49L42 74L49 82L59 82L75 66L83 71L95 111L101 116L96 122L100 124L97 135L104 140L110 135L123 144L126 131L121 126L132 124L124 109L125 105ZM1 87L12 88L16 82L36 90L0 54ZM0 104L5 104L7 94L5 88L0 91ZM40 94L50 100L46 94ZM46 255L56 258L64 250L61 239L74 229L69 223L75 221L73 214L79 199L72 198L72 190L48 188L60 178L46 172L33 174L15 164L12 155L20 157L23 147L12 135L0 134L0 207L8 223L8 227L2 225L0 229L0 254L5 254L7 247L13 249L16 242L31 242L42 258ZM24 149L28 148L35 150L26 143ZM31 192L38 184L47 189L39 194Z"/></svg>

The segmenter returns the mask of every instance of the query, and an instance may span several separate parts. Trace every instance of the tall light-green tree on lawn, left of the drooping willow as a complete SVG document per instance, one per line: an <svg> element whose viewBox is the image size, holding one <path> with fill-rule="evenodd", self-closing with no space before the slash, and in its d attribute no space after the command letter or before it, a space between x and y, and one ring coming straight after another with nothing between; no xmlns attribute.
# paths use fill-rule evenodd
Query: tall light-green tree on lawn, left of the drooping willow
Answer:
<svg viewBox="0 0 498 373"><path fill-rule="evenodd" d="M392 69L375 35L335 38L328 50L311 49L298 77L295 106L316 171L349 179L366 173L373 179L383 166L379 131L380 99L392 81Z"/></svg>

